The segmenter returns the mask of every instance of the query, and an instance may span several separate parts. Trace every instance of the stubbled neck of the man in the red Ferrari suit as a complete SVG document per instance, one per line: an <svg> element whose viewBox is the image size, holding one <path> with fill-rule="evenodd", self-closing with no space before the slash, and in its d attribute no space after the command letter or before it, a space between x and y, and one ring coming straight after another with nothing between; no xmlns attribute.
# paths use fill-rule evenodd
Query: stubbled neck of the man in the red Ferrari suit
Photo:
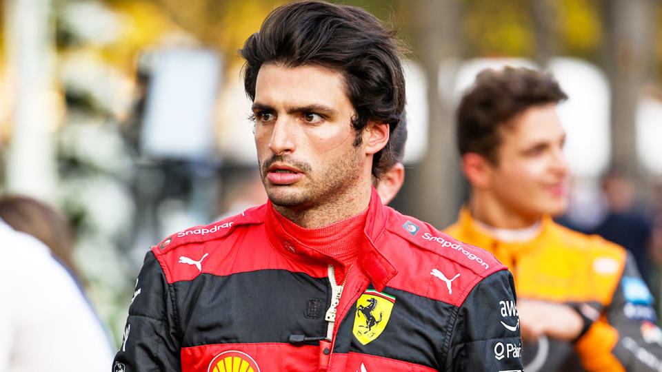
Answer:
<svg viewBox="0 0 662 372"><path fill-rule="evenodd" d="M274 205L274 209L288 220L306 229L317 229L356 216L368 208L371 193L370 181L348 187L341 195L323 198L313 206L285 207Z"/></svg>

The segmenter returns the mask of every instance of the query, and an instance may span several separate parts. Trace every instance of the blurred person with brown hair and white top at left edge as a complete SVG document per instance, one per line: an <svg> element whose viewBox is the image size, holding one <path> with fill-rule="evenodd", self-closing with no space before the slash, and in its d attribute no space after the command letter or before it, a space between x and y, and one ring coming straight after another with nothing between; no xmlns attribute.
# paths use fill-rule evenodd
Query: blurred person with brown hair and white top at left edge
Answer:
<svg viewBox="0 0 662 372"><path fill-rule="evenodd" d="M20 196L0 198L0 218L0 371L108 371L110 340L72 274L66 221Z"/></svg>

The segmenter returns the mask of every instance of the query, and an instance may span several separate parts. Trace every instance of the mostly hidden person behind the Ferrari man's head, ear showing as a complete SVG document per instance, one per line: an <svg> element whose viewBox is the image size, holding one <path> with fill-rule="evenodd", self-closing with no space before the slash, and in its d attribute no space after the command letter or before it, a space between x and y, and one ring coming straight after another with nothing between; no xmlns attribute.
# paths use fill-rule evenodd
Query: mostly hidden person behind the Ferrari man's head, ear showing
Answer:
<svg viewBox="0 0 662 372"><path fill-rule="evenodd" d="M389 141L393 141L393 156L381 158L381 167L388 170L379 178L372 177L372 186L377 189L383 205L391 203L405 182L405 166L402 164L402 159L405 156L407 142L406 115L403 115L400 125L395 128Z"/></svg>

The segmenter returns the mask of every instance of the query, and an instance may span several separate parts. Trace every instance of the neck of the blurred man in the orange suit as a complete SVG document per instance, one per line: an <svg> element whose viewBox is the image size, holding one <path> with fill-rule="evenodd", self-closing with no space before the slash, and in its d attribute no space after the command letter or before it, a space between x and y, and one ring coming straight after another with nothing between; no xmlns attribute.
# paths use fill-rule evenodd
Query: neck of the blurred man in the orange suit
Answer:
<svg viewBox="0 0 662 372"><path fill-rule="evenodd" d="M525 214L485 192L475 192L469 203L471 216L496 229L525 229L538 223L541 214Z"/></svg>

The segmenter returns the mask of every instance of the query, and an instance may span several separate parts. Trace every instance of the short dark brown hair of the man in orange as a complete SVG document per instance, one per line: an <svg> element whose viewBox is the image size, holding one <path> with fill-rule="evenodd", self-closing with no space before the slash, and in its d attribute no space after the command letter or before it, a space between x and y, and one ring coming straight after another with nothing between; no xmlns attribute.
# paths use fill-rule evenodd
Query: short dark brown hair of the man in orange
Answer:
<svg viewBox="0 0 662 372"><path fill-rule="evenodd" d="M568 99L551 74L528 68L483 70L457 109L457 147L497 164L501 128L532 106Z"/></svg>

